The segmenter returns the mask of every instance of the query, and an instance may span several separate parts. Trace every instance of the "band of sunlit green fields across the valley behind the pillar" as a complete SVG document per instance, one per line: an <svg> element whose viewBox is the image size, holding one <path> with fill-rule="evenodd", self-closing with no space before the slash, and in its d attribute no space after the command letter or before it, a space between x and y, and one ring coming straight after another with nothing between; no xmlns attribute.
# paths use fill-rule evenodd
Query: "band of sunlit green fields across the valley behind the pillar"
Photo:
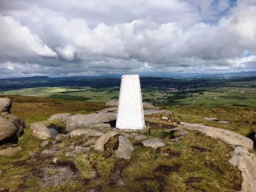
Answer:
<svg viewBox="0 0 256 192"><path fill-rule="evenodd" d="M202 87L204 90L193 93L194 89L184 93L173 93L168 90L142 89L143 101L158 105L170 106L252 106L256 107L256 88L245 87ZM191 91L191 93L189 93ZM17 94L43 98L66 99L74 101L108 102L118 99L119 87L94 89L90 87L37 87L3 91L0 94ZM173 95L181 95L174 101L168 101Z"/></svg>

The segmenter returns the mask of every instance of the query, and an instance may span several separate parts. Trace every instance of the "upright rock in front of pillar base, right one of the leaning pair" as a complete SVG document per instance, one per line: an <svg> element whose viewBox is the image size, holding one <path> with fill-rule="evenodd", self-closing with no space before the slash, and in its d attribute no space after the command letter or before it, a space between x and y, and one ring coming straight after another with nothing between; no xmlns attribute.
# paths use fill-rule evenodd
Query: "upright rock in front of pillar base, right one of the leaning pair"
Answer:
<svg viewBox="0 0 256 192"><path fill-rule="evenodd" d="M119 136L118 137L119 146L118 149L115 150L114 157L115 158L123 158L130 159L131 153L133 153L133 145L127 137Z"/></svg>

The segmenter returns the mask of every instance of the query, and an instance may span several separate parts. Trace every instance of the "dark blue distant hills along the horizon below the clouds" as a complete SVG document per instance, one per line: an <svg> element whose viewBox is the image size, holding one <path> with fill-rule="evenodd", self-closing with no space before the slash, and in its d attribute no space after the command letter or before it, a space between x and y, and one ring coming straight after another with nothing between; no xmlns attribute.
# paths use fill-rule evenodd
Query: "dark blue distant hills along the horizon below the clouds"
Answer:
<svg viewBox="0 0 256 192"><path fill-rule="evenodd" d="M255 76L254 76L255 73ZM157 74L155 74L157 76ZM178 89L196 88L196 87L223 87L223 86L245 86L256 87L256 72L241 72L227 74L187 74L182 77L154 77L147 74L147 77L141 75L142 87L175 87ZM184 74L183 74L184 75ZM196 75L196 77L192 77ZM219 75L219 76L218 76ZM170 75L171 76L171 75ZM60 87L60 86L77 86L77 87L115 87L119 86L121 75L102 75L87 77L23 77L23 78L6 78L0 79L0 91L24 89L33 87Z"/></svg>

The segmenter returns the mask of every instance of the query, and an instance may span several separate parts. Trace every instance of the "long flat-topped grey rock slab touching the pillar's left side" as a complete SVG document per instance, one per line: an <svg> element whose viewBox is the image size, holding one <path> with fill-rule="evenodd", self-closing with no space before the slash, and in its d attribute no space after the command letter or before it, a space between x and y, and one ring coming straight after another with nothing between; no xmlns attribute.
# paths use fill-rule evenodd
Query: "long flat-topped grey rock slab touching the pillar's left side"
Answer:
<svg viewBox="0 0 256 192"><path fill-rule="evenodd" d="M90 127L98 123L107 123L117 119L116 113L93 113L72 115L67 118L66 130L71 131L78 127Z"/></svg>

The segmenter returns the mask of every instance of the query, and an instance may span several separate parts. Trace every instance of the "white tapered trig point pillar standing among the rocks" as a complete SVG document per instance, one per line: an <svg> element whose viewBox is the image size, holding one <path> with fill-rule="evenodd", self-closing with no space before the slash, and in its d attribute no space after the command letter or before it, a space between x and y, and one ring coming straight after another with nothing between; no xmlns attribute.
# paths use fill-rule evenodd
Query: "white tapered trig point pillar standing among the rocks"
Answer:
<svg viewBox="0 0 256 192"><path fill-rule="evenodd" d="M139 75L122 75L116 127L132 130L145 127Z"/></svg>

